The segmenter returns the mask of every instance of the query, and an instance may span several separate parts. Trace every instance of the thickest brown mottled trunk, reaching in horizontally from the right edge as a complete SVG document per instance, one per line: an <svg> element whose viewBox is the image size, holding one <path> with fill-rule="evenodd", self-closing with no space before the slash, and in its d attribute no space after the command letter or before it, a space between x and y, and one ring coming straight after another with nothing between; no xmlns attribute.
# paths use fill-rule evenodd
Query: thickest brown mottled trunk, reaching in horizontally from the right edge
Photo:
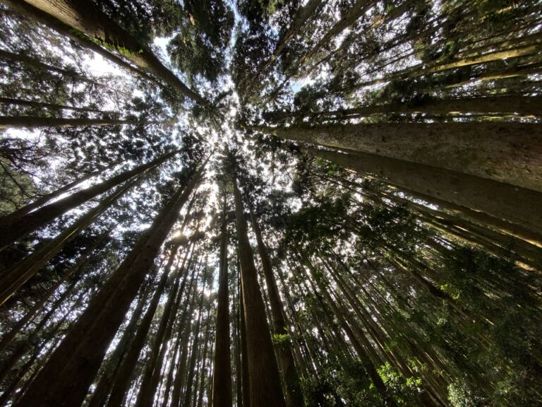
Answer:
<svg viewBox="0 0 542 407"><path fill-rule="evenodd" d="M538 124L381 123L254 129L542 192L542 130Z"/></svg>

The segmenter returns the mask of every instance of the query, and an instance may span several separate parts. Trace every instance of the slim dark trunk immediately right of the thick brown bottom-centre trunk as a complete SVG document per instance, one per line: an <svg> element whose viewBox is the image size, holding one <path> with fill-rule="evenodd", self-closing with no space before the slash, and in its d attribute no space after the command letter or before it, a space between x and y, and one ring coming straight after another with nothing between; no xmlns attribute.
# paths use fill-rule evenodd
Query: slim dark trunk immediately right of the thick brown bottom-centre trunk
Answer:
<svg viewBox="0 0 542 407"><path fill-rule="evenodd" d="M284 315L284 306L279 295L279 288L277 287L277 281L273 274L271 267L271 260L267 247L263 242L262 232L258 220L256 220L253 209L248 199L248 209L251 213L251 223L256 236L256 242L258 244L258 254L260 254L260 260L262 261L263 274L265 276L265 285L267 285L267 293L269 294L269 302L271 305L271 314L273 319L273 326L275 326L275 334L281 336L288 336L289 323ZM301 393L301 385L299 383L299 376L296 371L296 365L294 363L294 355L291 353L291 341L289 340L281 346L277 353L279 355L280 367L284 376L284 383L286 384L286 405L287 407L302 407L303 394Z"/></svg>

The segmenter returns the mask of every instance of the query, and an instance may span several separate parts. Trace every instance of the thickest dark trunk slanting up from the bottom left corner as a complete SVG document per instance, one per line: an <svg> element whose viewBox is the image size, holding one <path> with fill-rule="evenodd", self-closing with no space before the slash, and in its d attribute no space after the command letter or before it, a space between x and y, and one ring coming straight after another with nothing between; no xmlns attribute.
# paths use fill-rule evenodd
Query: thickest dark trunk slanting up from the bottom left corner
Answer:
<svg viewBox="0 0 542 407"><path fill-rule="evenodd" d="M40 400L44 407L79 406L83 402L107 346L119 329L147 271L153 266L159 247L178 218L179 211L200 182L204 166L205 163L193 174L186 187L176 191L119 269L92 298L88 308L71 326L64 341L17 403L18 407L35 406L36 400ZM77 380L74 381L73 377Z"/></svg>

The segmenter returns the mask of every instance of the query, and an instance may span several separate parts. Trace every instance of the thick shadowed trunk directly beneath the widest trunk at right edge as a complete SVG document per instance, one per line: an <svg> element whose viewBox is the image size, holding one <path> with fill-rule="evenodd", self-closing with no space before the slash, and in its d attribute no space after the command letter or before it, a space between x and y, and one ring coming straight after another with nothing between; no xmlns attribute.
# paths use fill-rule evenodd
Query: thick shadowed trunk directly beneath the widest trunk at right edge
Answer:
<svg viewBox="0 0 542 407"><path fill-rule="evenodd" d="M373 154L345 154L315 148L302 148L301 151L330 160L360 175L376 175L385 182L423 194L428 199L435 197L459 209L480 211L488 215L483 218L486 223L490 216L504 220L490 225L542 247L542 213L538 210L542 208L542 195L537 191Z"/></svg>

